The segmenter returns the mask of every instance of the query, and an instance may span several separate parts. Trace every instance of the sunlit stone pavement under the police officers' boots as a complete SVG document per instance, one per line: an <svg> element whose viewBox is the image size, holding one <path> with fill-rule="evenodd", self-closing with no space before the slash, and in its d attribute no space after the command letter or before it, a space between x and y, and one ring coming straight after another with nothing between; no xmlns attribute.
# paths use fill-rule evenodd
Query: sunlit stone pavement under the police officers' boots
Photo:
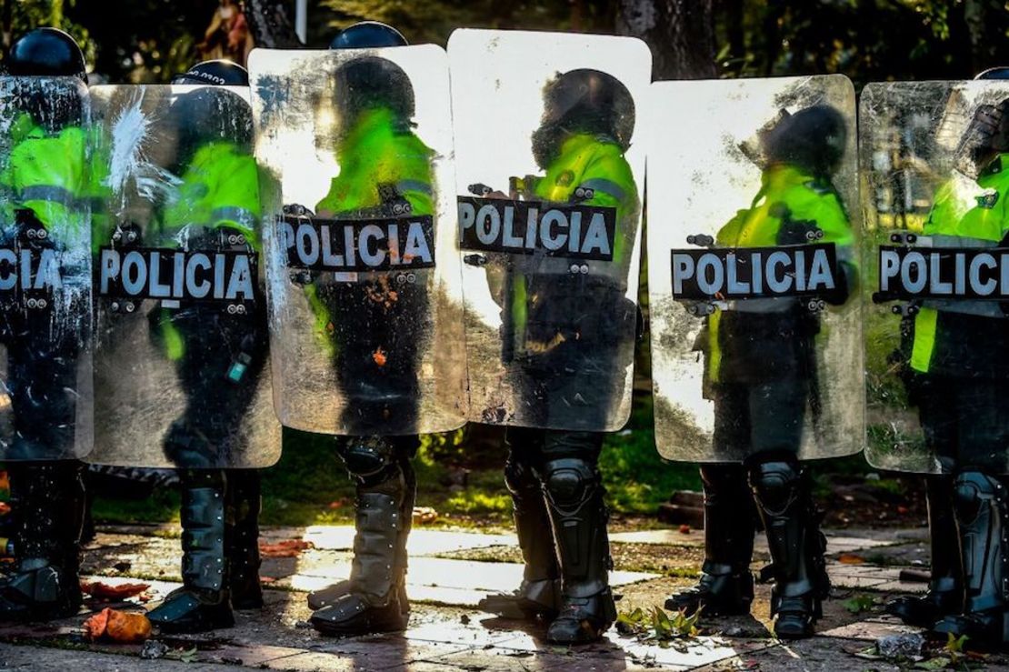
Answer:
<svg viewBox="0 0 1009 672"><path fill-rule="evenodd" d="M138 598L113 604L141 609L156 603L179 581L179 530L167 527L101 528L87 550L88 579L109 584L149 583ZM160 637L141 645L91 643L83 637L88 615L47 625L0 628L3 670L388 670L423 672L486 670L821 670L910 669L874 655L887 635L912 633L882 614L895 591L920 591L914 580L927 562L923 530L828 532L833 599L825 606L819 634L800 643L774 640L767 627L769 589L758 587L754 617L702 624L695 637L657 643L615 630L591 647L547 644L542 624L523 624L477 611L488 592L518 584L522 567L514 535L416 529L411 536L408 591L414 600L410 629L395 635L347 639L318 636L307 627L305 591L346 576L353 530L319 526L268 529L263 543L311 543L295 557L264 561L266 606L242 612L235 628L200 636ZM692 583L702 557L702 535L677 530L621 532L611 537L612 575L622 611L661 605L669 591ZM766 546L758 543L758 559ZM756 566L756 565L755 565ZM901 572L905 578L901 581ZM906 570L910 570L910 574ZM90 609L107 604L89 602ZM147 658L141 658L141 655ZM150 659L150 656L155 658ZM939 669L947 654L929 645L927 669ZM1009 670L1009 658L995 655L950 661Z"/></svg>

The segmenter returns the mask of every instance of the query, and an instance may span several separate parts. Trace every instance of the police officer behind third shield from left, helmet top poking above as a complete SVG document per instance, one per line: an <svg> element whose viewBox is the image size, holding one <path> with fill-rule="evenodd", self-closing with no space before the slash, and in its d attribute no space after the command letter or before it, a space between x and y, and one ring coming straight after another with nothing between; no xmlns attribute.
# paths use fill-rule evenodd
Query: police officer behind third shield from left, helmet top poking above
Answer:
<svg viewBox="0 0 1009 672"><path fill-rule="evenodd" d="M363 21L342 30L330 47L406 44L391 26ZM433 214L433 152L411 128L414 94L407 75L388 60L363 57L337 70L336 86L344 108L336 147L340 174L317 214L369 219L407 206L415 215ZM407 536L417 491L411 459L419 439L378 432L416 419L416 342L386 332L402 332L404 325L423 329L427 298L425 283L390 287L393 276L362 272L306 287L347 397L343 424L362 432L336 437L337 453L356 483L356 533L350 577L308 598L315 609L311 623L326 635L403 630L410 613ZM378 349L382 345L385 350Z"/></svg>

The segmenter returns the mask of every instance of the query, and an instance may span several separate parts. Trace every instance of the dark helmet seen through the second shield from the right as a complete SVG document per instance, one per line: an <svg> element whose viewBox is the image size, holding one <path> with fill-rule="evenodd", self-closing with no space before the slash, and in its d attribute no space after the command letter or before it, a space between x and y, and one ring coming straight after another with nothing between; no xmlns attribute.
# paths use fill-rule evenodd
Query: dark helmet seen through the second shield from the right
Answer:
<svg viewBox="0 0 1009 672"><path fill-rule="evenodd" d="M837 170L847 142L845 117L820 104L786 113L762 144L768 163L789 163L825 178Z"/></svg>

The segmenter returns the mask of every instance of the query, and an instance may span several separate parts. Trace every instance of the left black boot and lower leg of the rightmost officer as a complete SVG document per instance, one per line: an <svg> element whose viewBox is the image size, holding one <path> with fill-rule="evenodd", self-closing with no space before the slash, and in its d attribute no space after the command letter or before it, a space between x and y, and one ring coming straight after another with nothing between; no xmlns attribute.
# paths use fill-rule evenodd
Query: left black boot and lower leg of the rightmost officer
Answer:
<svg viewBox="0 0 1009 672"><path fill-rule="evenodd" d="M928 628L942 617L960 613L964 606L964 569L957 539L954 514L954 477L950 474L925 476L928 499L928 534L931 548L931 580L922 596L898 597L886 605L909 626Z"/></svg>

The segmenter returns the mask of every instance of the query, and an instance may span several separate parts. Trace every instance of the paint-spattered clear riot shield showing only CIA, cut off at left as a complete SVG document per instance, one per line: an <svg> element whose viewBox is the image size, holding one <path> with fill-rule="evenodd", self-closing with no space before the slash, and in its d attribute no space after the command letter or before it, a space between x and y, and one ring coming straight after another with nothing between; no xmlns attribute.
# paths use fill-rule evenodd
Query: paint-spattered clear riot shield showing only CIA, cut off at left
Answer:
<svg viewBox="0 0 1009 672"><path fill-rule="evenodd" d="M90 102L77 78L0 78L0 460L87 455Z"/></svg>

